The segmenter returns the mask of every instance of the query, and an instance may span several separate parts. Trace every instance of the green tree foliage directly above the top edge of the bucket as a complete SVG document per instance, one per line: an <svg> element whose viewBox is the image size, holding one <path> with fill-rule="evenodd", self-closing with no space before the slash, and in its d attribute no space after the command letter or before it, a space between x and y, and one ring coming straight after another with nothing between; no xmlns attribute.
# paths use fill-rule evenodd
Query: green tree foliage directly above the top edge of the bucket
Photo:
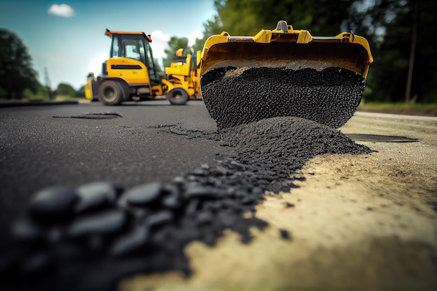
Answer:
<svg viewBox="0 0 437 291"><path fill-rule="evenodd" d="M295 29L332 36L348 17L354 0L225 0L214 1L223 31L231 36L253 36L260 29L274 29L286 20ZM219 25L217 23L216 25Z"/></svg>

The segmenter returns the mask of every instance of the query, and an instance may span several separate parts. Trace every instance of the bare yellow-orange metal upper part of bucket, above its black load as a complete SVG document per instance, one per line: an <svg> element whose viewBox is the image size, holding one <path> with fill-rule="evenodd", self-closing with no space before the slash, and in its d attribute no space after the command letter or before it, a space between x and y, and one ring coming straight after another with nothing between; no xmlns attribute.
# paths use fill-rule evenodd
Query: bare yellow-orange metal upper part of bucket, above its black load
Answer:
<svg viewBox="0 0 437 291"><path fill-rule="evenodd" d="M285 67L297 62L302 66L339 66L366 78L373 57L369 43L361 36L311 36L309 31L278 24L277 29L262 29L253 37L229 36L225 32L210 36L203 47L200 66L201 74L205 74L221 66Z"/></svg>

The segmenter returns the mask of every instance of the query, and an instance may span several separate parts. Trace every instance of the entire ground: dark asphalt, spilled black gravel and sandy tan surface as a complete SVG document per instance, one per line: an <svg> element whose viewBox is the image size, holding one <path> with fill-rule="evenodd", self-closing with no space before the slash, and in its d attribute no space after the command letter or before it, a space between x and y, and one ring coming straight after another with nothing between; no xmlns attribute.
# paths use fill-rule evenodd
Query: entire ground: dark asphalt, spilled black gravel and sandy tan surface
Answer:
<svg viewBox="0 0 437 291"><path fill-rule="evenodd" d="M436 288L436 119L217 130L164 103L1 110L0 287Z"/></svg>

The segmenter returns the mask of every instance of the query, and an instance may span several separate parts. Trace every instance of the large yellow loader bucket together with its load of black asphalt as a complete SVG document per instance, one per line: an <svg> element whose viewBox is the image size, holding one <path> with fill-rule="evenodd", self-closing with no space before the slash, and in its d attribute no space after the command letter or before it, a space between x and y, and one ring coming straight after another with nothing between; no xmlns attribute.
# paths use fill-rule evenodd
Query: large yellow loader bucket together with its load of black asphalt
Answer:
<svg viewBox="0 0 437 291"><path fill-rule="evenodd" d="M372 61L353 33L311 36L282 20L253 37L223 32L202 50L202 98L218 128L277 116L339 128L360 104Z"/></svg>

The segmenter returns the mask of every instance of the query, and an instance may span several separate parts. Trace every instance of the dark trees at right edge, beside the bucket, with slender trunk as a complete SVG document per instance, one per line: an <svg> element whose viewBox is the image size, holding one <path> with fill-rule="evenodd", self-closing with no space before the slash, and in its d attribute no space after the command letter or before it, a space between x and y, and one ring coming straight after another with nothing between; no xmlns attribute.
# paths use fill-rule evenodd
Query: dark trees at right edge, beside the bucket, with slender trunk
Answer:
<svg viewBox="0 0 437 291"><path fill-rule="evenodd" d="M436 10L436 1L377 0L350 11L350 27L364 31L375 60L366 100L437 102Z"/></svg>

